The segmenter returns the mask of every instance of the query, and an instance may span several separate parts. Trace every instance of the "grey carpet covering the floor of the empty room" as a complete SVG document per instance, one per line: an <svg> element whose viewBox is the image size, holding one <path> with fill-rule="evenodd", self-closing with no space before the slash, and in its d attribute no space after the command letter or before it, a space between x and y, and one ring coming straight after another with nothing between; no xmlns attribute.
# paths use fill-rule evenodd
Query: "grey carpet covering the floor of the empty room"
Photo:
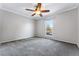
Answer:
<svg viewBox="0 0 79 59"><path fill-rule="evenodd" d="M0 45L0 56L79 56L74 44L29 38Z"/></svg>

